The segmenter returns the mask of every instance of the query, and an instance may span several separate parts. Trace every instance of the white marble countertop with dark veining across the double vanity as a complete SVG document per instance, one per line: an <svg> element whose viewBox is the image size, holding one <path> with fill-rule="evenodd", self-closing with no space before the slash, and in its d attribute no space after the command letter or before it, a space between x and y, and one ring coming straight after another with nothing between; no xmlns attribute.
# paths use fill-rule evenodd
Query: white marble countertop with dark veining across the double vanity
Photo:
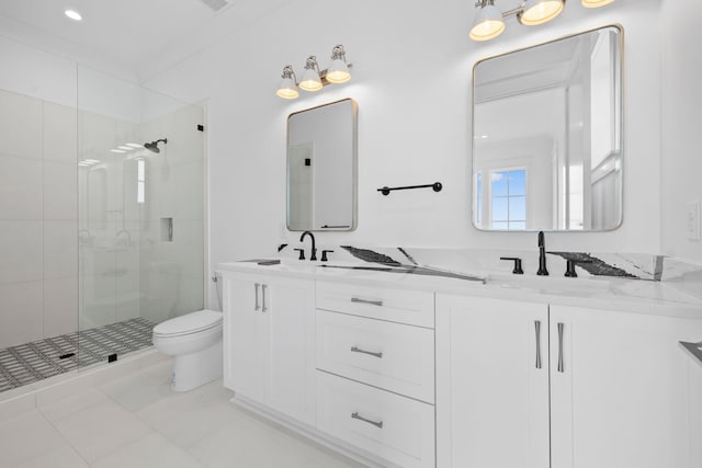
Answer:
<svg viewBox="0 0 702 468"><path fill-rule="evenodd" d="M498 256L495 263L488 256L494 254L485 252L350 247L333 250L328 262L299 261L282 252L220 263L217 270L702 319L702 294L695 283L632 279L585 271L575 278L536 276L526 267L525 274L513 275L509 262L499 262ZM480 255L490 260L486 262ZM562 269L565 271L565 260L561 260L563 265L550 259L550 270L558 275Z"/></svg>

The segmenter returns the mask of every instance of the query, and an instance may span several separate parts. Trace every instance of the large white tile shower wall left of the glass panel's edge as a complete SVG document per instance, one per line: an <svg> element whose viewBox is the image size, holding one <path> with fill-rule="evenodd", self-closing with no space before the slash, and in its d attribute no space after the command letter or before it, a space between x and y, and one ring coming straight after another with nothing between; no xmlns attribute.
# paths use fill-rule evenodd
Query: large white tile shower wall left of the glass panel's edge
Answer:
<svg viewBox="0 0 702 468"><path fill-rule="evenodd" d="M0 91L0 347L76 331L76 110Z"/></svg>

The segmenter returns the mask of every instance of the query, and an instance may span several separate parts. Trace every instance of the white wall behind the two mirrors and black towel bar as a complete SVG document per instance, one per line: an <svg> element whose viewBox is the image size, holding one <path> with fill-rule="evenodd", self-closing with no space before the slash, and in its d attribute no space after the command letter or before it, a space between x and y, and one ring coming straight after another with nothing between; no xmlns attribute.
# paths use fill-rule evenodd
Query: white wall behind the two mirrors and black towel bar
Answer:
<svg viewBox="0 0 702 468"><path fill-rule="evenodd" d="M678 2L679 3L679 2ZM298 0L171 68L147 85L210 100L211 262L272 251L285 214L285 117L351 96L359 102L359 227L320 243L535 249L534 233L490 233L469 216L471 76L476 60L578 31L625 31L624 224L612 232L552 233L548 248L659 252L658 1L621 0L600 10L570 2L554 23L508 20L489 44L469 41L472 2ZM342 43L349 84L285 102L274 94L286 64L322 66ZM383 185L444 190L387 197ZM288 240L297 242L296 235ZM212 265L211 265L212 267Z"/></svg>

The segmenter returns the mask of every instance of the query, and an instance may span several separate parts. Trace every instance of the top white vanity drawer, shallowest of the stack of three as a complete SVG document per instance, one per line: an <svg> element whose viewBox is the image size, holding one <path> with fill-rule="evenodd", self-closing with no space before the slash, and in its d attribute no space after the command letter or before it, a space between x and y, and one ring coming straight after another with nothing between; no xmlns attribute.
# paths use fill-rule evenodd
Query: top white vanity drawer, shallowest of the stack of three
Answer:
<svg viewBox="0 0 702 468"><path fill-rule="evenodd" d="M316 303L318 309L434 328L433 293L317 282Z"/></svg>

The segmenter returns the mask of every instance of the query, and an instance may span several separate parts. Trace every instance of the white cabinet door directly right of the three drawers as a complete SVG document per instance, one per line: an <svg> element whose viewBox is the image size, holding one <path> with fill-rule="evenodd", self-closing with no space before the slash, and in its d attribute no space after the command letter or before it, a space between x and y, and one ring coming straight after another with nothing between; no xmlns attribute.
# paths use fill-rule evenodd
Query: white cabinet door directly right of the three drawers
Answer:
<svg viewBox="0 0 702 468"><path fill-rule="evenodd" d="M548 308L437 295L442 468L548 467Z"/></svg>

